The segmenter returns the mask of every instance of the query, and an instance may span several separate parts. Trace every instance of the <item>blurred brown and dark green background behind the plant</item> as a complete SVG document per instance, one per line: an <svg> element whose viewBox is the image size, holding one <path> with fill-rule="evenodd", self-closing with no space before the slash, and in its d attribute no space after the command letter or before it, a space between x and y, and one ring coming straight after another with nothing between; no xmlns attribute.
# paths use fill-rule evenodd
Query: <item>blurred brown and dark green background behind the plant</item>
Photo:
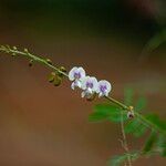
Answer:
<svg viewBox="0 0 166 166"><path fill-rule="evenodd" d="M123 101L126 86L166 118L165 0L0 0L0 43L28 48L70 70L112 82ZM123 153L120 126L90 123L96 103L86 102L64 81L46 82L50 71L0 53L0 165L105 166ZM128 137L129 148L144 138ZM138 159L135 166L164 166Z"/></svg>

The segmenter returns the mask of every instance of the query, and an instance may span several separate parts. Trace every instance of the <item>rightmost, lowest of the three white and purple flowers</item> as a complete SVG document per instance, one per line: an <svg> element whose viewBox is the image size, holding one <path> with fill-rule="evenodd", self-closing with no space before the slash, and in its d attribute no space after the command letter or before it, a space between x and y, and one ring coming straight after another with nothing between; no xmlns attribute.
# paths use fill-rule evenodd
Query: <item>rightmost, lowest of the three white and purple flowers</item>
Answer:
<svg viewBox="0 0 166 166"><path fill-rule="evenodd" d="M97 93L98 93L98 97L101 96L108 96L108 93L112 90L112 85L108 81L106 80L101 80L98 82L98 87L97 87Z"/></svg>

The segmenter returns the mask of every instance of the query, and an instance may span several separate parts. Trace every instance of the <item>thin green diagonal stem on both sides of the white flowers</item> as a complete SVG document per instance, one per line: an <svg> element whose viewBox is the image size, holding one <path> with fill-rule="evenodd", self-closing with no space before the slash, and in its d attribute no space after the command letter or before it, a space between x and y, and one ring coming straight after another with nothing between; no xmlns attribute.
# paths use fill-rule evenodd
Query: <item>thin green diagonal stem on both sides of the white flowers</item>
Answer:
<svg viewBox="0 0 166 166"><path fill-rule="evenodd" d="M38 62L40 64L43 64L44 66L53 70L54 72L58 72L66 77L69 77L69 75L65 72L62 72L59 68L54 66L53 64L51 64L50 62L48 62L46 59L43 59L41 56L34 55L29 53L29 51L27 49L24 49L24 51L19 51L15 46L13 46L12 49L9 45L1 45L0 46L0 51L11 54L11 55L20 55L20 56L24 56L29 60L33 60L34 62ZM131 106L127 106L118 101L116 101L115 98L111 97L111 96L105 96L106 100L108 100L110 102L114 103L115 105L120 106L122 110L124 111L131 111ZM165 131L160 129L159 127L157 127L155 124L151 123L148 120L146 120L144 116L142 116L138 113L135 113L135 115L145 124L147 125L151 129L154 128L156 129L156 132L160 132L163 134L166 134Z"/></svg>

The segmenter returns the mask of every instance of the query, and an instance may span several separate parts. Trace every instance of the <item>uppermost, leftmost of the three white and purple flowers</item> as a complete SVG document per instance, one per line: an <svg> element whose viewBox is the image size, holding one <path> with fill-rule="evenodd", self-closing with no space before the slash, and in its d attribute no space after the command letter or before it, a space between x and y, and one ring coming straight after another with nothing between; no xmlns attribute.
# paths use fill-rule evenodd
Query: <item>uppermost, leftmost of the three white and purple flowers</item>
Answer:
<svg viewBox="0 0 166 166"><path fill-rule="evenodd" d="M71 71L69 72L69 80L73 81L71 87L74 90L75 87L80 87L82 86L82 79L85 77L85 71L83 68L81 66L74 66L73 69L71 69Z"/></svg>

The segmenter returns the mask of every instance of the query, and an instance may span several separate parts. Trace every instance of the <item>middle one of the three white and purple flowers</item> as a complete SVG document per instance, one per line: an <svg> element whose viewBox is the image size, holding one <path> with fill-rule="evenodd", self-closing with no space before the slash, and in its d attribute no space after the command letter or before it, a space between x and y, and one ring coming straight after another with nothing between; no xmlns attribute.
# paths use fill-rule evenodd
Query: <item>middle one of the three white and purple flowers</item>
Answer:
<svg viewBox="0 0 166 166"><path fill-rule="evenodd" d="M85 76L82 80L82 97L90 98L97 90L97 80L94 76Z"/></svg>

